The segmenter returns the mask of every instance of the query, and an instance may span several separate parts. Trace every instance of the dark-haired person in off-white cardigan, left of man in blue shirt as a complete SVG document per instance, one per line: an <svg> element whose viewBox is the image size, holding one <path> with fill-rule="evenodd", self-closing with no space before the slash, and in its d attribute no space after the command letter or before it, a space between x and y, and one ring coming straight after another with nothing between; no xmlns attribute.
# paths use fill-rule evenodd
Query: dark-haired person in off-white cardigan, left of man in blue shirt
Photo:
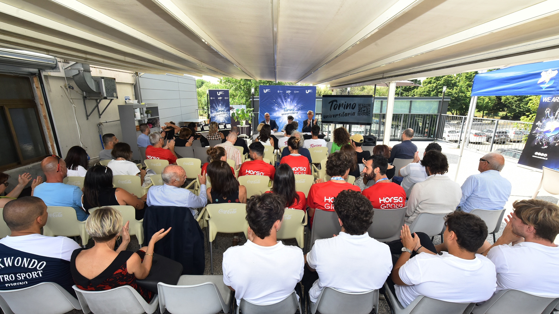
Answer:
<svg viewBox="0 0 559 314"><path fill-rule="evenodd" d="M425 167L427 179L415 183L411 189L406 206L405 223L410 225L415 218L423 212L427 213L451 213L462 198L460 185L445 173L448 172L447 156L440 151L430 150L421 165Z"/></svg>

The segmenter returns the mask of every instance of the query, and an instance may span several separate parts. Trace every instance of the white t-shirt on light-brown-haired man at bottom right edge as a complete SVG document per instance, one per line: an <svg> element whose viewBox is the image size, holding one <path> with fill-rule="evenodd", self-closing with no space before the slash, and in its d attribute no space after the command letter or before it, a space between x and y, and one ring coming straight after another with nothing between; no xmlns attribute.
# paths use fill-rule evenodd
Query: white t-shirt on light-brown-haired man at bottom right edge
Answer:
<svg viewBox="0 0 559 314"><path fill-rule="evenodd" d="M487 253L497 271L497 291L515 289L541 297L559 297L559 246L534 242L498 245Z"/></svg>

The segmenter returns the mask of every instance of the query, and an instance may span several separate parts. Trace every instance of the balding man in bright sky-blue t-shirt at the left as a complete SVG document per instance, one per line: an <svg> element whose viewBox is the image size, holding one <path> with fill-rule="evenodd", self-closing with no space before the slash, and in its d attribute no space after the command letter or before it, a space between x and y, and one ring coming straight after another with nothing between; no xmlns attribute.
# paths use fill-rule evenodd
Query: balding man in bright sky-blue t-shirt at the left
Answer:
<svg viewBox="0 0 559 314"><path fill-rule="evenodd" d="M62 183L68 172L64 159L48 156L41 161L41 169L46 181L37 185L33 196L42 199L46 206L72 207L79 221L86 220L89 215L82 208L82 190L75 185Z"/></svg>

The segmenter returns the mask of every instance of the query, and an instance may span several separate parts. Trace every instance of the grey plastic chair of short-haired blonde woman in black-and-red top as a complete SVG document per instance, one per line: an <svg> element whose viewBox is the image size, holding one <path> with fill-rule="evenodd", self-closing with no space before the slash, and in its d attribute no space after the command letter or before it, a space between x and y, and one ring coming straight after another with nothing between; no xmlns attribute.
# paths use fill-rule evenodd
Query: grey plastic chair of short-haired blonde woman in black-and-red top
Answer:
<svg viewBox="0 0 559 314"><path fill-rule="evenodd" d="M121 286L103 291L85 291L73 286L84 314L147 314L157 311L159 296L145 302L136 289Z"/></svg>

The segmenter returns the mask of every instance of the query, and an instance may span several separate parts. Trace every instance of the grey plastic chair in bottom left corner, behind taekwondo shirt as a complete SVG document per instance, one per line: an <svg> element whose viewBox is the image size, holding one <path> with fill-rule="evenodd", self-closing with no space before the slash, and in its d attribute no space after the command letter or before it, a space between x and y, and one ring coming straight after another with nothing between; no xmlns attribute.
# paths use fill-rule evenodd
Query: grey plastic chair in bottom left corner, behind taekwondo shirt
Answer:
<svg viewBox="0 0 559 314"><path fill-rule="evenodd" d="M78 300L54 282L0 291L0 307L4 314L63 314L81 310Z"/></svg>

